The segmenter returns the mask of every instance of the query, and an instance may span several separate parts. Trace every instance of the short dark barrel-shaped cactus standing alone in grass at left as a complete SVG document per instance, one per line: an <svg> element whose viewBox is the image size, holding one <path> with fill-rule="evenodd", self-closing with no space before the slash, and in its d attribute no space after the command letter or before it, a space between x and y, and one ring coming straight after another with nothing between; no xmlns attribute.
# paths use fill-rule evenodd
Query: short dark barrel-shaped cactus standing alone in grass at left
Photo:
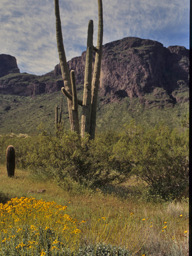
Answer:
<svg viewBox="0 0 192 256"><path fill-rule="evenodd" d="M8 177L13 177L15 174L15 149L12 145L6 150L6 166Z"/></svg>

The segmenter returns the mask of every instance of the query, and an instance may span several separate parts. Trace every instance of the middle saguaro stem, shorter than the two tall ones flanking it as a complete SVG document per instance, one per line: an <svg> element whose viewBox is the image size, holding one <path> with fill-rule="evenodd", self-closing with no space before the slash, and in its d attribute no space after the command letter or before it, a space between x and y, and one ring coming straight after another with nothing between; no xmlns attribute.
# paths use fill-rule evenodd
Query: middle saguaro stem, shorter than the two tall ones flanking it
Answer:
<svg viewBox="0 0 192 256"><path fill-rule="evenodd" d="M90 129L92 62L93 62L93 21L90 20L88 24L87 52L86 52L86 65L85 65L84 93L83 93L83 109L82 109L82 121L81 121L82 137L84 137L85 132L89 133L89 129Z"/></svg>

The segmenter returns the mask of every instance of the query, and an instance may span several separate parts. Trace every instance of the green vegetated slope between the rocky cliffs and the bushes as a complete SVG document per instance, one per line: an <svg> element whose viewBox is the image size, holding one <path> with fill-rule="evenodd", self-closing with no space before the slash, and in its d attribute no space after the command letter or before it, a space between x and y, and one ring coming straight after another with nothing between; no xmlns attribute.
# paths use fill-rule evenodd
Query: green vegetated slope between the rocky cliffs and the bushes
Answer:
<svg viewBox="0 0 192 256"><path fill-rule="evenodd" d="M82 86L79 86L82 88ZM78 97L82 98L83 90L78 90ZM188 94L188 92L186 92ZM27 133L37 132L38 125L43 122L48 133L54 134L55 106L60 109L61 97L63 98L62 120L66 129L70 128L68 120L68 106L66 97L62 92L36 95L34 98L16 95L0 94L0 134L11 132ZM106 97L107 98L107 97ZM152 94L146 94L146 100L154 100ZM161 107L160 102L145 106L140 98L122 98L119 102L102 104L98 101L97 130L120 130L135 118L136 124L154 127L159 122L164 122L170 128L182 130L181 120L188 113L189 103L183 102L168 107ZM81 116L79 107L79 116ZM81 124L81 120L80 124Z"/></svg>

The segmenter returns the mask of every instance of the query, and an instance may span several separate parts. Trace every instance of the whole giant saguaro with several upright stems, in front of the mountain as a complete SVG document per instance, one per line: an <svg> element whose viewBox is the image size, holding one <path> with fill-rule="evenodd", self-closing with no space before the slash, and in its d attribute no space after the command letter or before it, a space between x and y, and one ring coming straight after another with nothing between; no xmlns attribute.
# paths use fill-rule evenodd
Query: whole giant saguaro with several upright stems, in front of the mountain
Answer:
<svg viewBox="0 0 192 256"><path fill-rule="evenodd" d="M71 130L80 133L79 120L78 120L78 105L82 106L82 128L81 135L84 137L85 133L90 134L90 139L94 139L96 129L96 111L97 111L97 99L99 78L101 70L102 59L102 40L103 40L103 14L102 14L102 0L98 0L98 38L97 47L93 46L93 21L90 20L88 24L88 38L87 38L87 52L86 52L86 67L85 67L85 79L84 79L84 94L83 101L77 99L75 75L74 71L71 71L71 77L68 70L66 56L64 51L62 29L59 13L59 2L55 1L55 15L56 15L56 36L58 54L60 60L60 66L62 71L62 77L64 80L64 86L62 92L68 98L68 109ZM96 52L94 74L92 78L92 62L93 62L93 50Z"/></svg>

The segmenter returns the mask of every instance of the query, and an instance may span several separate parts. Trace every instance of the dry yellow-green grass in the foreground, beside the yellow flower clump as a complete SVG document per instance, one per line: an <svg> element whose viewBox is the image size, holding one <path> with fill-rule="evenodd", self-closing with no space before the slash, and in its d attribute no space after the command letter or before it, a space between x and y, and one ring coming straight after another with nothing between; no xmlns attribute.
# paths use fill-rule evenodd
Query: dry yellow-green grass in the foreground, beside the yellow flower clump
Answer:
<svg viewBox="0 0 192 256"><path fill-rule="evenodd" d="M66 205L70 216L77 218L79 222L84 220L87 223L84 224L83 222L79 226L82 234L84 234L84 238L82 238L84 243L90 238L93 241L116 242L122 246L127 246L127 240L123 238L120 231L124 227L124 220L133 216L134 224L142 223L142 226L138 225L140 231L135 227L136 232L133 232L132 235L138 234L137 238L140 241L144 238L145 241L136 255L187 256L188 201L183 198L181 202L147 203L139 198L118 197L117 191L122 191L121 188L124 187L131 190L133 185L136 185L135 179L129 180L116 190L115 188L108 188L108 191L111 189L111 193L101 190L80 189L78 186L74 187L70 193L62 190L52 180L37 180L22 170L16 169L14 178L9 178L6 174L6 166L0 166L0 200L2 202L14 197L32 196L36 199L55 201L57 204ZM46 191L37 193L38 190ZM116 220L114 223L118 223L118 225L116 228L111 226L110 232L115 232L118 239L109 240L108 238L108 240L104 240L105 233L98 221L102 217L108 218L112 226L114 224L110 221ZM92 237L88 237L90 227L97 230L97 232L92 233ZM130 230L133 230L133 227Z"/></svg>

